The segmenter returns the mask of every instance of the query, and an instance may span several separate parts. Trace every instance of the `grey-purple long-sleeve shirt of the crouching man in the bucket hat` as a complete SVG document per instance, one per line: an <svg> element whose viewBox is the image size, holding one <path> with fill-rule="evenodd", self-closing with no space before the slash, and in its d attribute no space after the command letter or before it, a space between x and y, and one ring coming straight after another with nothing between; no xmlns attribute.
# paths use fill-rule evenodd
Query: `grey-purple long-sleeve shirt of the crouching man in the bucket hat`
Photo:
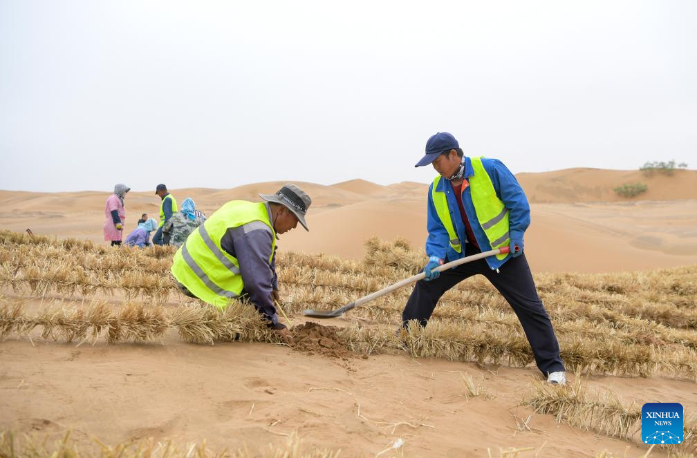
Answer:
<svg viewBox="0 0 697 458"><path fill-rule="evenodd" d="M268 209L268 204L267 204ZM270 214L270 210L269 210ZM250 301L269 323L276 326L278 315L271 299L272 290L278 289L276 253L271 258L273 232L266 223L252 221L237 228L229 228L220 239L220 246L240 263L240 274ZM268 262L271 258L271 262Z"/></svg>

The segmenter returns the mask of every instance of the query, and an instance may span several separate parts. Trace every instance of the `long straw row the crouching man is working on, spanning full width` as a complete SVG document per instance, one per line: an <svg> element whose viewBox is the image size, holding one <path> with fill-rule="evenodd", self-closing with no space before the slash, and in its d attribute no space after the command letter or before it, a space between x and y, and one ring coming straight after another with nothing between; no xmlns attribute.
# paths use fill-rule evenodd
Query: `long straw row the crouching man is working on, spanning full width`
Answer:
<svg viewBox="0 0 697 458"><path fill-rule="evenodd" d="M224 312L197 302L169 310L134 302L117 308L95 302L82 309L56 302L33 317L22 313L20 302L5 301L0 308L0 338L10 333L29 335L34 329L41 329L43 338L69 342L95 342L100 335L108 342L159 341L167 329L176 329L183 340L193 343L279 342L275 333L261 322L254 307L242 301L233 301ZM354 322L340 329L337 337L346 349L359 354L406 350L420 358L514 366L533 362L525 335L520 331L511 332L503 324L461 326L460 323L432 319L426 328L411 324L408 331L395 335L394 326L367 326ZM579 337L562 339L560 345L569 370L639 377L662 374L697 378L697 354L687 348L663 349Z"/></svg>

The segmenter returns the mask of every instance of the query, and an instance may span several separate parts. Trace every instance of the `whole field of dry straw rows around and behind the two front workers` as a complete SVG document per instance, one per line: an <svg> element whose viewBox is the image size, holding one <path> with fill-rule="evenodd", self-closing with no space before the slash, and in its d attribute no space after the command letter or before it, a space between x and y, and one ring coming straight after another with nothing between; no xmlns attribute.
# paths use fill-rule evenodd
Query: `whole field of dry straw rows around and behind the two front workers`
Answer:
<svg viewBox="0 0 697 458"><path fill-rule="evenodd" d="M310 307L336 308L410 276L424 263L423 253L411 250L403 240L388 243L373 238L366 246L368 253L362 262L280 253L278 273L285 290L284 308L291 314ZM171 247L105 249L91 242L0 231L0 285L39 296L49 292L88 297L119 292L127 300L140 297L162 303L177 291L168 272L173 252ZM169 258L162 258L167 253ZM372 266L369 276L365 275L367 266ZM697 333L693 330L697 326L697 299L692 294L696 280L697 267L650 273L537 276L541 297L560 337L562 356L570 368L691 379L697 372ZM429 326L414 328L402 342L392 333L401 323L401 310L409 293L404 288L353 310L351 318L392 327L354 324L344 333L346 345L375 352L405 347L413 356L466 361L507 361L514 365L532 361L517 317L485 278L470 278L444 294ZM181 337L190 342L266 340L254 324L258 315L252 310L245 321L246 309L236 307L229 308L227 315L206 307L178 308L164 318L162 313L155 313L151 316L151 331L140 335L145 340L159 335L158 319L164 319L167 326L177 327ZM146 322L145 315L109 315L116 321L105 322L107 318L103 317L100 322L102 309L90 309L91 324L82 325L93 330L102 323L114 333L107 340L122 340L122 334L128 335L127 340L138 339L138 332L135 328L129 331L128 323L136 319ZM135 313L137 309L129 310ZM43 321L35 319L33 326L43 326L49 338L82 338L87 331L79 326L86 318L80 313L86 312L49 310ZM124 323L123 331L116 331L118 323ZM75 327L70 331L72 337L66 331L70 326ZM666 344L672 344L671 352L663 348Z"/></svg>

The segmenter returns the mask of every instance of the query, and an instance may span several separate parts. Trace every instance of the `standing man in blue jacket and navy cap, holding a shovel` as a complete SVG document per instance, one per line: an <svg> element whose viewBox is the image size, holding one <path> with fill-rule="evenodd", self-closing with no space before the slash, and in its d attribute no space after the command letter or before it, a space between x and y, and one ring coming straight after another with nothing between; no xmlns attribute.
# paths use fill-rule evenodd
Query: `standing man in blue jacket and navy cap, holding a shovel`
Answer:
<svg viewBox="0 0 697 458"><path fill-rule="evenodd" d="M426 143L416 167L433 164L439 176L429 187L426 278L416 283L402 313L402 324L426 326L438 299L454 285L481 274L508 301L533 348L537 368L552 384L566 384L559 344L523 253L530 205L520 184L497 159L465 157L451 134L438 132ZM489 256L443 272L435 267L510 246L510 254Z"/></svg>

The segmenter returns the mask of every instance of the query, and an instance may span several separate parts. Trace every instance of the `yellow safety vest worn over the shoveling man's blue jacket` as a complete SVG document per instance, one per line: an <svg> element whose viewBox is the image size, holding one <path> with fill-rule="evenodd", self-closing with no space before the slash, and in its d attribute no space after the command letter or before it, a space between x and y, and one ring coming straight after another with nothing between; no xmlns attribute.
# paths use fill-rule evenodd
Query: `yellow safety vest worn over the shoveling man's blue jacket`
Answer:
<svg viewBox="0 0 697 458"><path fill-rule="evenodd" d="M508 209L503 205L503 202L501 202L498 196L496 196L496 190L493 189L491 177L489 177L489 174L484 170L484 166L482 165L482 158L473 157L471 161L475 174L469 177L470 194L472 196L472 203L475 206L477 221L479 221L480 226L482 226L484 234L487 235L492 249L508 246L508 244L510 244L510 237L508 234ZM450 218L450 210L447 207L445 193L436 191L436 187L440 180L441 175L438 175L431 187L431 198L434 201L438 218L441 219L441 223L445 226L447 235L450 237L450 246L452 246L452 249L457 251L457 253L462 253L462 244L457 236L452 219ZM496 258L498 260L503 260L506 256L506 254L500 254L496 255Z"/></svg>

